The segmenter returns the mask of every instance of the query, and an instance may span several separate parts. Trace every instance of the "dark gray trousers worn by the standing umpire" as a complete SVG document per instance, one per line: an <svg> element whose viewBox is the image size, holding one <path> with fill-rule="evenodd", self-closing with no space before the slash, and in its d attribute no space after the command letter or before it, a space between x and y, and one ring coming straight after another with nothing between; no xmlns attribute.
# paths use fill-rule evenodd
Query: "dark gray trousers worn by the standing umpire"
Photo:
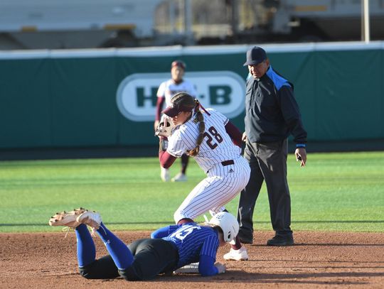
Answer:
<svg viewBox="0 0 384 289"><path fill-rule="evenodd" d="M250 143L247 141L244 158L250 163L250 181L240 194L238 221L240 239L252 240L253 210L262 182L267 185L272 228L276 235L292 235L291 197L287 182L288 142Z"/></svg>

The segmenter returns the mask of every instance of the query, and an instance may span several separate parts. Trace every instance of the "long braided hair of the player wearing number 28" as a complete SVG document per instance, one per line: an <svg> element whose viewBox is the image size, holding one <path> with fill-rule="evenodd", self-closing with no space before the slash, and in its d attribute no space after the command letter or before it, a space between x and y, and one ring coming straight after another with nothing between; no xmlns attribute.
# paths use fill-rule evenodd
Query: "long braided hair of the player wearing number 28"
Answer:
<svg viewBox="0 0 384 289"><path fill-rule="evenodd" d="M196 147L191 149L191 151L187 151L187 154L188 156L196 156L200 151L200 145L203 142L204 131L206 130L204 116L200 111L200 102L198 102L198 99L193 98L186 92L179 92L178 94L175 94L174 97L172 97L171 102L174 105L191 108L192 116L195 117L193 122L198 124L198 138L196 140Z"/></svg>

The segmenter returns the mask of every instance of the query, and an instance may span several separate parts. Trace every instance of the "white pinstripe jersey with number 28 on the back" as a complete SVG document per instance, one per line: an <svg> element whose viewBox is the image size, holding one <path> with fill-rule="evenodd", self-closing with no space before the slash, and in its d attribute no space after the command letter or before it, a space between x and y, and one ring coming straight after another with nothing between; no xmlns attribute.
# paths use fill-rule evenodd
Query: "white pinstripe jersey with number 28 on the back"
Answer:
<svg viewBox="0 0 384 289"><path fill-rule="evenodd" d="M225 160L239 158L241 149L233 144L232 139L225 131L228 118L215 109L206 109L208 114L203 112L206 129L199 153L194 156L196 163L204 172L208 172L214 165ZM186 123L176 126L169 137L167 152L171 156L179 158L196 148L198 138L198 123L195 123L194 116Z"/></svg>

